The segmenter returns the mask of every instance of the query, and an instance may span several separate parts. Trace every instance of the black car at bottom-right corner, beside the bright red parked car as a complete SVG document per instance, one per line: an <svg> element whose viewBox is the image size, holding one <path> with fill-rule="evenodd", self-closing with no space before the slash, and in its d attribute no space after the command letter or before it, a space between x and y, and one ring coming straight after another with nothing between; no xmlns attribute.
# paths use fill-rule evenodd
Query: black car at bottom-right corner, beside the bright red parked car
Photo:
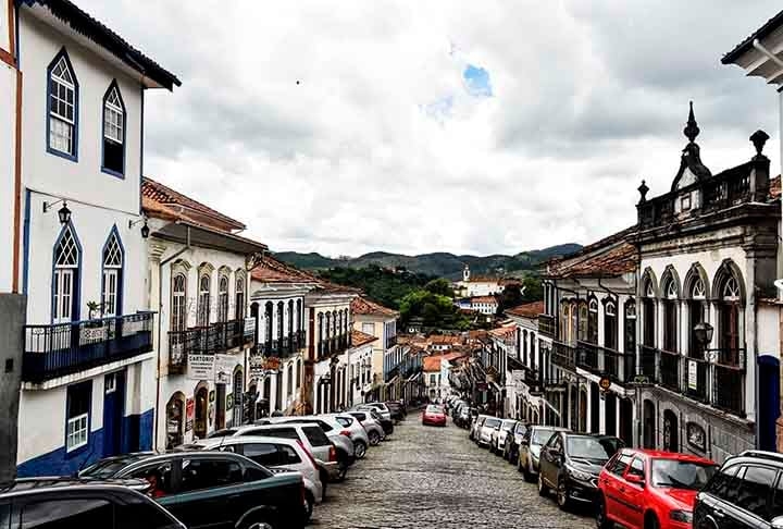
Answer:
<svg viewBox="0 0 783 529"><path fill-rule="evenodd" d="M730 457L696 495L694 529L783 529L783 455Z"/></svg>

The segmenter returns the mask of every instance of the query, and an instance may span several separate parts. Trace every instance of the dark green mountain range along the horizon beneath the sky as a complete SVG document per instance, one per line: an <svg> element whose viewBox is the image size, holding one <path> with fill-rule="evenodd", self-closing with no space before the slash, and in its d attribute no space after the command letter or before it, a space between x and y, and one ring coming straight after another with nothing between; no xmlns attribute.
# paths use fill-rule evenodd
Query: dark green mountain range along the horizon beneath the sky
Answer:
<svg viewBox="0 0 783 529"><path fill-rule="evenodd" d="M468 264L473 274L497 274L530 271L554 257L567 256L579 251L581 245L575 243L560 244L544 249L522 251L513 256L457 256L448 253L422 254L406 256L386 251L373 251L359 257L324 257L321 254L299 254L297 251L279 251L275 257L297 268L323 270L328 268L364 268L375 264L383 268L402 267L411 272L436 275L439 278L459 279L462 269Z"/></svg>

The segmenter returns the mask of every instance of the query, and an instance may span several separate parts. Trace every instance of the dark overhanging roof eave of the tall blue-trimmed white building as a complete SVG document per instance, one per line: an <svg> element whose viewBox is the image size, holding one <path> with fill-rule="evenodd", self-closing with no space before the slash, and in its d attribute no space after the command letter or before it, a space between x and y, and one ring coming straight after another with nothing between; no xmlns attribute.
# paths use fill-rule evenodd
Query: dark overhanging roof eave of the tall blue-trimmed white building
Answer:
<svg viewBox="0 0 783 529"><path fill-rule="evenodd" d="M45 7L74 32L105 49L125 65L164 88L171 90L174 85L182 85L176 75L164 70L163 66L130 46L120 35L70 0L21 0L17 3L27 5L30 9L36 4Z"/></svg>

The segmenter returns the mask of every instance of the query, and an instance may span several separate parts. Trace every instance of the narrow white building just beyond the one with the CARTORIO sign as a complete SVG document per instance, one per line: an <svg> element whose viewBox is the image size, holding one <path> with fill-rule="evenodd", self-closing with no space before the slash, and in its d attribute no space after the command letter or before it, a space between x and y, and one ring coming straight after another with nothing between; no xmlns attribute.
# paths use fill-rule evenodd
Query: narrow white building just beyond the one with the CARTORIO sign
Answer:
<svg viewBox="0 0 783 529"><path fill-rule="evenodd" d="M270 256L261 259L250 278L250 316L258 325L250 355L254 415L291 414L303 402L304 296L319 281Z"/></svg>

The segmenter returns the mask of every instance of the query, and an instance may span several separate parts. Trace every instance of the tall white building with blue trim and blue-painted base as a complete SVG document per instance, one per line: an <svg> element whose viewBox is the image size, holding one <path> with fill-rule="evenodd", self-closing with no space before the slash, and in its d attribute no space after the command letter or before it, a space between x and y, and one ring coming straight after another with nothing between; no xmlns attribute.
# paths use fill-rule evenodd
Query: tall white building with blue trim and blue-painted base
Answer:
<svg viewBox="0 0 783 529"><path fill-rule="evenodd" d="M153 444L144 100L179 81L71 2L7 4L14 16L2 10L0 35L12 28L23 74L15 90L4 67L0 75L0 119L15 101L24 134L15 144L3 132L0 142L16 146L13 158L0 156L0 171L15 160L15 190L3 183L2 204L18 204L21 222L3 239L21 239L8 249L18 255L11 281L28 300L18 473L71 475Z"/></svg>

